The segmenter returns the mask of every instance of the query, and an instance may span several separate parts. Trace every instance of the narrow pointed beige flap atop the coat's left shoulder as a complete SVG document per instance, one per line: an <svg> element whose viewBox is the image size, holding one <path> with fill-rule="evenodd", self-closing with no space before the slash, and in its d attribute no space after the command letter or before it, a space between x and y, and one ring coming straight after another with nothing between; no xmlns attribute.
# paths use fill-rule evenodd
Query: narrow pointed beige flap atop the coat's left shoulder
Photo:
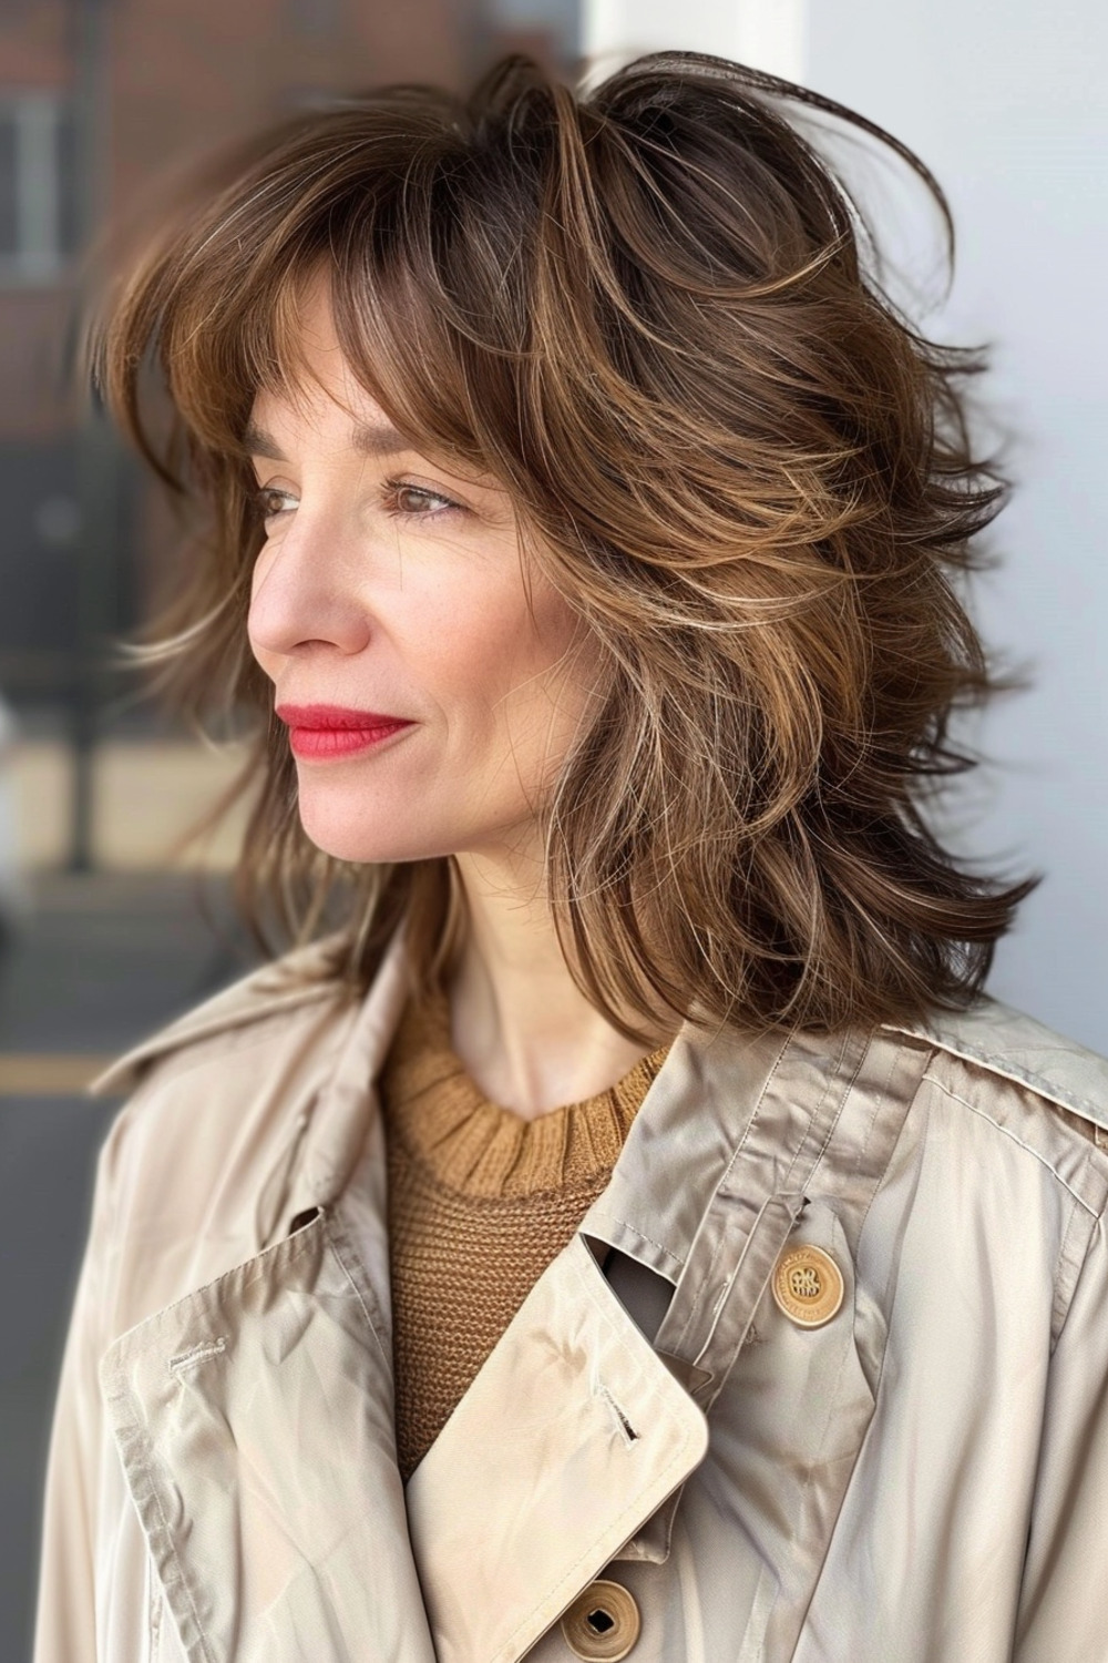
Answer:
<svg viewBox="0 0 1108 1663"><path fill-rule="evenodd" d="M96 1096L126 1096L151 1074L164 1076L281 1034L281 1049L334 1024L355 994L332 971L337 938L286 953L251 971L118 1058L91 1083Z"/></svg>

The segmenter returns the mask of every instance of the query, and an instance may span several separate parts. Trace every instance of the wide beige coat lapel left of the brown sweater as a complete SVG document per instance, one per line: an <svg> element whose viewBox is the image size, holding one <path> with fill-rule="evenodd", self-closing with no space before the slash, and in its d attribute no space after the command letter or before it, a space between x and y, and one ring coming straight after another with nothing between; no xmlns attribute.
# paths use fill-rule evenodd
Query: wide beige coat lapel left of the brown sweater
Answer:
<svg viewBox="0 0 1108 1663"><path fill-rule="evenodd" d="M384 1327L324 1211L108 1350L106 1412L189 1663L434 1663Z"/></svg>

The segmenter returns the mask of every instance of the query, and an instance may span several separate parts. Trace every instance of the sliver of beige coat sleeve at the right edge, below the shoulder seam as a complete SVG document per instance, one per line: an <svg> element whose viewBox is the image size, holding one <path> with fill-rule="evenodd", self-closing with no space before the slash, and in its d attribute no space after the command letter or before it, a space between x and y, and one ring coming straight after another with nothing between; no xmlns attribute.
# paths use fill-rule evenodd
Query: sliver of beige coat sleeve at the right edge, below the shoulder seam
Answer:
<svg viewBox="0 0 1108 1663"><path fill-rule="evenodd" d="M1108 1239L1093 1229L1052 1360L1013 1663L1108 1656Z"/></svg>

